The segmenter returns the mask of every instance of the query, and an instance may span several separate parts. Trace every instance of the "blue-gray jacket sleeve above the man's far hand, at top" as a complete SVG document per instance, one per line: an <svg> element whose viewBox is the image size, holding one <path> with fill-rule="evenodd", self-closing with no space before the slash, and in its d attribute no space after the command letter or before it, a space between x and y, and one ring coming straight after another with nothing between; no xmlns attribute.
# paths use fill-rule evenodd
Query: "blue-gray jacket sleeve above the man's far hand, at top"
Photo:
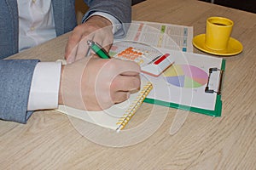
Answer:
<svg viewBox="0 0 256 170"><path fill-rule="evenodd" d="M90 14L98 11L113 15L122 24L123 30L114 34L115 38L125 37L131 23L131 0L93 0L85 1L89 10L84 14L83 22Z"/></svg>

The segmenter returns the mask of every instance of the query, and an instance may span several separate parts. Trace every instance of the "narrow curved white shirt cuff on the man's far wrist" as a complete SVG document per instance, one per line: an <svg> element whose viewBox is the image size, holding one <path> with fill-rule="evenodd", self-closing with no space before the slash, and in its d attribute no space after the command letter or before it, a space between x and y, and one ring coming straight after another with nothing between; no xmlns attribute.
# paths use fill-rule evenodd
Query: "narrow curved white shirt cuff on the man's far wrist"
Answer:
<svg viewBox="0 0 256 170"><path fill-rule="evenodd" d="M99 16L102 16L106 19L108 19L111 23L112 23L112 26L113 26L113 34L117 31L119 31L121 28L122 28L122 25L121 23L119 22L119 20L117 20L115 17L113 17L111 14L108 14L108 13L103 13L103 12L95 12L93 14L90 14L90 17L93 16L93 15L99 15ZM90 18L88 17L87 20Z"/></svg>

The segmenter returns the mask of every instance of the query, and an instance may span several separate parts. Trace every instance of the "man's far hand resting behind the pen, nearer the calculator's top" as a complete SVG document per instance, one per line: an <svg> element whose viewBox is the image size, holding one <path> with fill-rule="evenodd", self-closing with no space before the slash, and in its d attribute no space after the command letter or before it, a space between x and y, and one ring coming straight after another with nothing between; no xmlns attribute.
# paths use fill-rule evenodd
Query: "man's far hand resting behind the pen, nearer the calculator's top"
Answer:
<svg viewBox="0 0 256 170"><path fill-rule="evenodd" d="M113 32L111 22L98 15L91 16L89 20L74 28L71 37L68 38L65 49L67 64L84 58L89 47L87 40L98 42L107 51L113 43Z"/></svg>

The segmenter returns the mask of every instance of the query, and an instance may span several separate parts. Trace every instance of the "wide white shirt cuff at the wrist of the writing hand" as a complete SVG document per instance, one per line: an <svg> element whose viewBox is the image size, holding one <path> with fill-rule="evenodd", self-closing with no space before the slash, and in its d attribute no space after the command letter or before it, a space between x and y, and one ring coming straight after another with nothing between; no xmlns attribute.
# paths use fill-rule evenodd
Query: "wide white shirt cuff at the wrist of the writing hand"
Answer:
<svg viewBox="0 0 256 170"><path fill-rule="evenodd" d="M32 76L27 111L57 108L60 79L61 62L39 62Z"/></svg>

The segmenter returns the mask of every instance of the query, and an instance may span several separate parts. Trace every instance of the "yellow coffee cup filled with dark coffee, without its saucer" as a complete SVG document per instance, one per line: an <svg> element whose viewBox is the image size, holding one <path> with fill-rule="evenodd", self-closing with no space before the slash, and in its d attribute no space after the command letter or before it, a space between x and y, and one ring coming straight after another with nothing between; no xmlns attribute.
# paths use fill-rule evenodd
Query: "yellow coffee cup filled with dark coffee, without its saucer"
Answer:
<svg viewBox="0 0 256 170"><path fill-rule="evenodd" d="M210 17L207 19L206 42L207 48L224 50L230 41L230 34L234 22L223 17Z"/></svg>

